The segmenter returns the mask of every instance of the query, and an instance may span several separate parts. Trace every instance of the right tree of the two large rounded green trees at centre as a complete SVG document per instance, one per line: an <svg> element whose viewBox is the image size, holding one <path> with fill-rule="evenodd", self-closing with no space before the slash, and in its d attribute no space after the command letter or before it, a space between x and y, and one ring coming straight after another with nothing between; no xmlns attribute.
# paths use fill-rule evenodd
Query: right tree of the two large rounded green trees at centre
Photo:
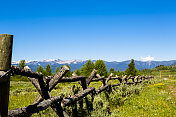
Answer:
<svg viewBox="0 0 176 117"><path fill-rule="evenodd" d="M97 73L100 74L100 76L107 76L107 68L103 60L97 60L95 62L95 69L97 70Z"/></svg>

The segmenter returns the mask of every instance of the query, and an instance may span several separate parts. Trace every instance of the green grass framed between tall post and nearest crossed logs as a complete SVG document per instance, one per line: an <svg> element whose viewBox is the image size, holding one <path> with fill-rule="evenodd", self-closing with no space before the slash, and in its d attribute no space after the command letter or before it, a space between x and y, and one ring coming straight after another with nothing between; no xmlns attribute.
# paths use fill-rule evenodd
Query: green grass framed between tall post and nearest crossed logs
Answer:
<svg viewBox="0 0 176 117"><path fill-rule="evenodd" d="M11 81L9 110L28 106L33 102L38 92L31 82Z"/></svg>

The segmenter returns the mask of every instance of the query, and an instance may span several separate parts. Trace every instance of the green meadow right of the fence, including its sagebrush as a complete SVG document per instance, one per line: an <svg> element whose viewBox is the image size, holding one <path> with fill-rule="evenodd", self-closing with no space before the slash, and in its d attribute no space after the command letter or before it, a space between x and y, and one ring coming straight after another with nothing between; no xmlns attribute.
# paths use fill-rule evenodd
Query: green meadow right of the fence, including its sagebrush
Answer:
<svg viewBox="0 0 176 117"><path fill-rule="evenodd" d="M156 79L151 84L144 84L143 87L137 86L142 90L132 93L127 97L121 97L119 93L111 96L111 101L106 104L110 108L111 114L100 109L93 111L91 116L101 117L175 117L176 116L176 78L166 81ZM129 87L128 87L129 88ZM131 91L134 91L132 88ZM118 96L117 96L118 95ZM115 99L112 99L115 98ZM119 102L120 103L117 103ZM106 102L103 100L102 102ZM104 106L105 107L105 106ZM106 109L107 110L107 109Z"/></svg>

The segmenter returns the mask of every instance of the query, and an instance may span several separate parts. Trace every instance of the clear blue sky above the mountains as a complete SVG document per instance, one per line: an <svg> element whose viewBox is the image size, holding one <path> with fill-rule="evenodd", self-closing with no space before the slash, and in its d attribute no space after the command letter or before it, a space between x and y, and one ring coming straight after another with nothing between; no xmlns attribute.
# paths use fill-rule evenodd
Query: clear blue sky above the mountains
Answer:
<svg viewBox="0 0 176 117"><path fill-rule="evenodd" d="M1 0L13 61L176 59L175 0Z"/></svg>

